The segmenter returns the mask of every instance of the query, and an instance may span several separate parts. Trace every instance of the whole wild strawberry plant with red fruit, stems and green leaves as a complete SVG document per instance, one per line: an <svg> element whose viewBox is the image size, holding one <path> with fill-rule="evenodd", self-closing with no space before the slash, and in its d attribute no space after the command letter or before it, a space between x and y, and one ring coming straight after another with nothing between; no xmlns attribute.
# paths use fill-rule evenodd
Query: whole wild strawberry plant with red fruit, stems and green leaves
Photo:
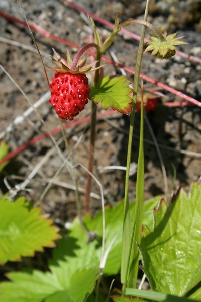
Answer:
<svg viewBox="0 0 201 302"><path fill-rule="evenodd" d="M176 46L185 44L180 40L182 37L176 38L176 34L162 34L148 23L148 9L149 1L144 20L131 19L119 23L116 17L113 31L105 39L100 37L93 19L89 18L93 27L94 42L80 48L73 60L68 52L67 60L56 51L56 59L51 56L56 67L50 69L56 73L49 85L49 102L58 115L63 130L70 159L67 167L71 171L76 188L78 217L73 220L67 231L63 228L59 235L58 228L52 225L53 220L41 215L41 207L33 207L32 202L27 202L24 197L13 198L12 192L1 197L1 264L20 261L22 257L43 251L44 247L56 245L51 259L48 260L48 270L29 267L22 271L7 272L6 277L10 281L0 283L0 300L3 302L96 302L109 299L121 302L135 300L136 297L153 301L201 300L200 181L193 183L189 196L183 189L179 189L172 197L157 196L144 202L143 114L144 110L155 108L157 96L145 96L142 89L139 98L142 56L143 53L152 51L151 55L157 55L160 59L171 58L176 53ZM104 77L102 57L118 32L124 26L135 23L142 25L142 33L131 88L131 83L124 75ZM26 24L33 37L28 22ZM146 28L154 31L155 36L152 36L152 41L144 51ZM34 42L36 43L35 39ZM90 51L90 48L95 48L96 60L86 64L86 59L81 59L81 56ZM44 64L43 66L45 68ZM86 75L88 72L93 75L90 85ZM71 122L89 103L89 99L92 100L90 157L86 213L83 215L73 156L61 120ZM130 128L124 199L114 207L105 207L103 188L100 185L102 211L91 217L88 202L93 177L97 104L105 110L111 107L121 114L130 115ZM129 176L136 111L140 112L140 144L136 198L131 201ZM52 140L65 164L64 155L53 137ZM7 149L1 158L6 156L6 153ZM1 169L3 168L4 166L1 166ZM99 184L98 180L96 181ZM142 271L149 281L150 288L146 291L136 289ZM117 295L110 292L110 284L107 283L107 279L112 280L113 277L119 280Z"/></svg>

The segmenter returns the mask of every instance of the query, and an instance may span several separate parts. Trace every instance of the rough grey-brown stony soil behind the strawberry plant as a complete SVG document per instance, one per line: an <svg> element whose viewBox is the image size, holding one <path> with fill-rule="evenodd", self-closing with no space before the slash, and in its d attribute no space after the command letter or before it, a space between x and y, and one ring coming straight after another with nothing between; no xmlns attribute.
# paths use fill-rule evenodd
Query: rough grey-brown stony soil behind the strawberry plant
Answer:
<svg viewBox="0 0 201 302"><path fill-rule="evenodd" d="M190 5L186 5L186 3L187 1L171 1L170 5L167 0L165 2L151 1L149 22L152 22L162 31L167 30L168 33L179 31L179 36L185 35L184 40L189 44L178 47L178 49L200 57L201 28L199 21L201 17L201 2L193 1ZM117 13L120 21L125 21L129 18L143 18L145 8L145 1L141 0L134 1L133 4L130 4L130 1L127 0L119 2L82 0L76 1L76 4L111 22L114 22ZM82 46L91 39L91 26L86 23L79 12L66 4L64 5L62 1L29 0L22 3L22 8L28 20L34 21L51 33L72 43ZM0 10L23 20L18 4L13 0L0 1ZM102 36L106 36L111 30L100 23L96 24ZM34 49L34 44L27 28L12 23L3 17L0 19L0 25L1 37L32 46ZM141 27L137 25L128 26L127 29L137 34L141 32ZM48 37L44 38L38 33L34 33L34 36L40 51L46 54L53 54L52 47L61 54L65 54L67 49L73 56L76 53L76 49L69 48ZM149 31L147 31L146 37L149 38ZM137 47L137 41L119 34L115 38L111 50L121 63L134 69ZM110 57L109 53L106 55ZM43 59L47 65L51 65L51 61L47 56L43 56ZM1 42L0 61L32 104L48 92L48 84L37 53L20 46ZM171 59L160 61L156 57L151 57L150 53L148 53L143 57L142 73L168 84L197 100L201 99L201 66L198 63L186 60L178 55ZM49 79L51 79L53 71L47 69L47 74ZM120 70L108 65L105 67L105 74L120 74ZM37 108L37 112L43 118L45 126L41 123L39 116L33 112L21 123L13 124L9 130L8 126L18 116L23 115L30 105L3 70L0 70L0 77L1 139L7 141L10 150L15 150L34 137L46 133L47 129L53 130L59 127L58 118L52 110L47 97L46 102ZM132 81L132 77L129 74L128 77ZM144 83L144 87L150 87L150 84ZM147 120L160 146L160 152L167 172L168 194L170 195L172 189L179 185L189 191L192 181L200 177L201 109L195 106L167 107L165 106L166 102L182 101L182 99L166 91L161 90L161 92L165 97L159 99L155 111L147 113ZM88 116L90 111L91 106L89 103L85 111L79 114L75 120ZM100 106L98 106L98 112L102 112ZM123 198L125 171L106 170L102 172L100 168L111 165L126 165L129 120L129 116L114 113L106 118L98 118L97 121L93 173L103 186L106 204L112 205ZM69 122L64 122L64 124L66 123ZM136 114L132 162L137 162L138 159L139 125L139 114ZM67 128L66 135L72 149L74 164L80 163L87 168L90 123L82 122ZM55 134L54 137L59 140L62 137L61 132ZM30 189L30 191L22 190L18 192L18 194L25 194L28 200L37 202L50 179L54 178L62 165L62 159L55 149L48 156L48 152L52 147L52 140L46 137L26 148L12 159L1 176L2 193L8 190L3 183L3 177L15 175L26 179L40 161L47 156L46 161L26 186L26 189ZM159 157L146 120L144 147L145 199L148 199L164 193L164 182ZM60 148L66 155L62 139ZM75 171L80 188L85 189L86 171L80 165L75 168ZM175 182L174 171L176 173ZM72 177L66 166L61 169L54 180L73 186ZM20 182L22 180L9 180L12 188ZM131 199L135 198L135 186L136 174L130 177ZM95 181L92 182L91 190L95 194L100 192L99 186ZM84 193L80 195L84 204ZM75 191L54 183L42 198L40 205L44 207L44 212L50 213L53 218L60 218L63 221L72 220L76 215ZM90 206L92 213L94 213L100 208L100 200L91 197Z"/></svg>

